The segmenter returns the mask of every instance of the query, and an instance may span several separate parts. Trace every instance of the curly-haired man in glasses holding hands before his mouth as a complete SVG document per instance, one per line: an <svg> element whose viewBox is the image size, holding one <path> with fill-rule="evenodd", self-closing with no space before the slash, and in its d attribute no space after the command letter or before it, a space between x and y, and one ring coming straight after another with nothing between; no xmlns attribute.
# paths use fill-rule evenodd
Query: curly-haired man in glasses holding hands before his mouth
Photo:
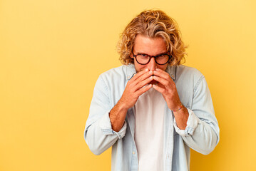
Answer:
<svg viewBox="0 0 256 171"><path fill-rule="evenodd" d="M143 11L118 44L121 67L101 74L85 140L100 155L112 147L112 170L189 170L190 148L204 155L219 142L205 77L180 65L185 46L163 11Z"/></svg>

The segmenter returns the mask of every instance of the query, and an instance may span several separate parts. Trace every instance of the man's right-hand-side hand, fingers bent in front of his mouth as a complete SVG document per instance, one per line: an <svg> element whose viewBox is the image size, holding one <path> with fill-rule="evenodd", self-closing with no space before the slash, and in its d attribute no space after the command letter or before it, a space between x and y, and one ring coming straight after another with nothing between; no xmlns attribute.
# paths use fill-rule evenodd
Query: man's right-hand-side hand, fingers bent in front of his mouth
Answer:
<svg viewBox="0 0 256 171"><path fill-rule="evenodd" d="M158 81L158 85L153 85L153 88L162 93L170 110L178 110L182 103L180 102L175 83L170 78L170 75L159 68L153 71L153 75L153 80Z"/></svg>

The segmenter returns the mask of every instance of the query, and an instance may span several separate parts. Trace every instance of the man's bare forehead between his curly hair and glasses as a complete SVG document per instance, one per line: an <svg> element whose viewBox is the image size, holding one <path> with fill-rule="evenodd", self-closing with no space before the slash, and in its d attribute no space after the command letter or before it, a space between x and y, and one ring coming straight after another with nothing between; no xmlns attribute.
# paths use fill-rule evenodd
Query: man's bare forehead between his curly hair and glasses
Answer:
<svg viewBox="0 0 256 171"><path fill-rule="evenodd" d="M136 53L147 53L148 55L157 55L167 51L162 37L150 38L141 34L135 37L133 49Z"/></svg>

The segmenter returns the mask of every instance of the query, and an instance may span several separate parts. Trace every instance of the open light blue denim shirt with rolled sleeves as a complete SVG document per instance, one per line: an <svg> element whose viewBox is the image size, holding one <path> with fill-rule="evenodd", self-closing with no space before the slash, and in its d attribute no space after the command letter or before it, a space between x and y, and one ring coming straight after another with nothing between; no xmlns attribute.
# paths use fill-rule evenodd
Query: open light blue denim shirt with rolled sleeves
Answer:
<svg viewBox="0 0 256 171"><path fill-rule="evenodd" d="M203 74L182 65L168 66L166 72L175 82L189 117L185 130L180 130L173 112L165 104L163 167L164 170L190 170L190 148L208 155L220 140L220 129ZM93 91L84 138L95 155L112 147L111 170L138 170L134 108L128 110L123 128L118 133L112 130L109 118L110 110L118 103L127 82L134 75L133 64L113 68L99 76Z"/></svg>

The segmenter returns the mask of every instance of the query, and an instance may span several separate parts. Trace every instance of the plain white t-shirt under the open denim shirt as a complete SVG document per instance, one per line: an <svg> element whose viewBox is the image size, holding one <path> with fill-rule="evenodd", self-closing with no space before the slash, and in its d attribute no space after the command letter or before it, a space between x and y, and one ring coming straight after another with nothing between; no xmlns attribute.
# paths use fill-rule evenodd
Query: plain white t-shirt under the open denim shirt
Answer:
<svg viewBox="0 0 256 171"><path fill-rule="evenodd" d="M154 88L135 103L135 144L138 170L163 170L163 117L165 100Z"/></svg>

